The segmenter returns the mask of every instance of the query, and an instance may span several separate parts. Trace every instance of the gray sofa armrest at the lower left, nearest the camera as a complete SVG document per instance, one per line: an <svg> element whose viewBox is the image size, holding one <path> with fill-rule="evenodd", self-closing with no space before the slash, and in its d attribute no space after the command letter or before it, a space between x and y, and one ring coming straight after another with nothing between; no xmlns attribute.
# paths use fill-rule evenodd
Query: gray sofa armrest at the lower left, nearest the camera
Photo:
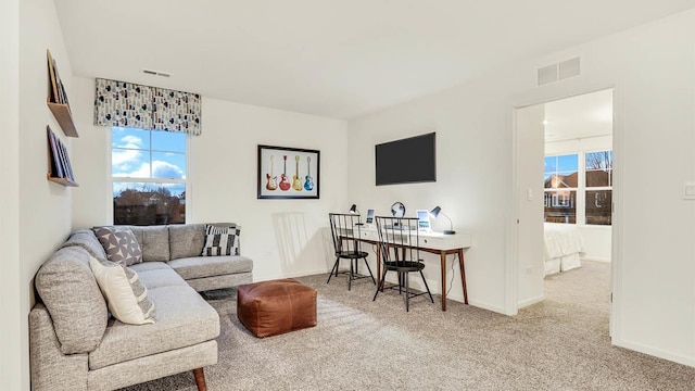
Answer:
<svg viewBox="0 0 695 391"><path fill-rule="evenodd" d="M41 303L37 303L29 313L29 354L31 390L87 390L88 354L65 355L61 352L53 321Z"/></svg>

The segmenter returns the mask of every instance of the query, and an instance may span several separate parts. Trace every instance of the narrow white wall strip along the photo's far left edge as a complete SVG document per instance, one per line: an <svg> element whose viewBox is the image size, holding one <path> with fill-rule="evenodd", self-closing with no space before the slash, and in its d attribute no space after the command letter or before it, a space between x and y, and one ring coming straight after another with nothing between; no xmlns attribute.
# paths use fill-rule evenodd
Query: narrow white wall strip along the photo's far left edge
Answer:
<svg viewBox="0 0 695 391"><path fill-rule="evenodd" d="M20 1L0 2L0 379L7 390L28 389L26 341L22 341L20 263ZM22 384L24 383L24 388Z"/></svg>

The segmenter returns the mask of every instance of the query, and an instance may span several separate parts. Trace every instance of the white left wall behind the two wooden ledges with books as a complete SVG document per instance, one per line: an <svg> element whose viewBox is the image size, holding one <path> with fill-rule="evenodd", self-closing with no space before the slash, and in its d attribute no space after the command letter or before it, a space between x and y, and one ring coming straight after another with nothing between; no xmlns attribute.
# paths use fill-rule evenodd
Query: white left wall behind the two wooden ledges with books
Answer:
<svg viewBox="0 0 695 391"><path fill-rule="evenodd" d="M2 166L17 167L16 175L20 178L17 180L10 168L10 181L4 184L8 187L4 195L10 197L10 205L18 211L16 217L10 216L11 223L14 219L18 224L10 228L14 234L9 237L10 249L13 248L15 240L18 241L18 275L15 275L18 278L10 286L16 287L14 297L20 305L20 332L11 335L11 338L15 339L14 343L21 345L21 354L13 356L13 360L22 369L15 371L13 376L17 376L21 381L20 387L15 389L28 390L28 313L34 304L33 278L41 263L65 239L71 226L72 189L46 179L48 173L47 125L50 125L71 151L70 140L66 139L46 104L48 97L46 50L50 49L55 59L71 98L72 70L53 1L25 1L20 4L18 12L18 98L14 98L18 103L16 105L18 134L16 138L12 136L12 124L9 131L3 131L3 148L5 141L10 148L8 155L3 150L2 159L3 162L5 159L12 162L8 165L3 163ZM16 24L10 21L10 26L16 26ZM4 53L3 50L3 55ZM12 108L12 104L9 106ZM9 135L5 136L5 134ZM4 137L8 137L8 140ZM13 144L18 146L18 153L13 152ZM17 193L15 194L14 191ZM10 262L14 262L12 251L10 251ZM12 297L12 293L10 294Z"/></svg>

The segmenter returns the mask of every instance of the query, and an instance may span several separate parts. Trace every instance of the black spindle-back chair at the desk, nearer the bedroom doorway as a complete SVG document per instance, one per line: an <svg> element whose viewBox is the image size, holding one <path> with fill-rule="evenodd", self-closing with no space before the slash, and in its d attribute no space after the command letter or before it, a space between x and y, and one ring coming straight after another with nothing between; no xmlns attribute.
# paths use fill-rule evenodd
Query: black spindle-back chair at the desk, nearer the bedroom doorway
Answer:
<svg viewBox="0 0 695 391"><path fill-rule="evenodd" d="M425 263L420 258L420 236L417 230L417 218L399 218L399 217L377 217L377 230L379 232L379 251L381 262L383 264L383 273L379 280L379 286L374 294L374 300L383 290L387 273L395 272L399 274L399 285L387 287L395 289L397 287L399 294L403 294L405 288L405 311L409 310L409 300L420 294L429 294L430 301L434 303L430 288L422 274ZM410 292L409 275L410 273L419 273L425 282L426 292Z"/></svg>

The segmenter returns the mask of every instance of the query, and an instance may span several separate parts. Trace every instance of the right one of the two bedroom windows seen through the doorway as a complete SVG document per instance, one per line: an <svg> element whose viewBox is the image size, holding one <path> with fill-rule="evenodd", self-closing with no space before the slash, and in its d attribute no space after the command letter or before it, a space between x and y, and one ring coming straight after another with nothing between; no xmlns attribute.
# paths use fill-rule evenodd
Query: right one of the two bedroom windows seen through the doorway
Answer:
<svg viewBox="0 0 695 391"><path fill-rule="evenodd" d="M585 154L585 224L610 225L612 206L612 151Z"/></svg>

